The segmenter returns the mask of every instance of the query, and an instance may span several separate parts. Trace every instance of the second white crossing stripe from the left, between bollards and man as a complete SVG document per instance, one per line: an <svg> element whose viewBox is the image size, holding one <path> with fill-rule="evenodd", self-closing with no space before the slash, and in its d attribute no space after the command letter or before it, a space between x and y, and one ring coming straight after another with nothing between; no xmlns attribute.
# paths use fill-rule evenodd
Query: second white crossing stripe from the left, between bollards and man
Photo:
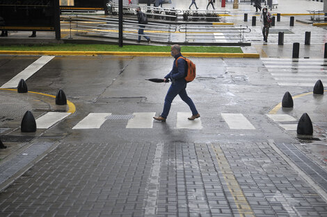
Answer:
<svg viewBox="0 0 327 217"><path fill-rule="evenodd" d="M90 113L72 129L99 129L106 121L106 117L110 115L111 113Z"/></svg>

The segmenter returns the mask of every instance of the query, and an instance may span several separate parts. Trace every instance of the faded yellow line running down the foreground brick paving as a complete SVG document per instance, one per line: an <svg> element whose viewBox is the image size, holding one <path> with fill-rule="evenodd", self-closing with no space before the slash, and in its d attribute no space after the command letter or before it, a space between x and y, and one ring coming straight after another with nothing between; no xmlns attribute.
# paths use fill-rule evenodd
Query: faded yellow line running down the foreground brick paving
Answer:
<svg viewBox="0 0 327 217"><path fill-rule="evenodd" d="M240 216L255 216L253 210L248 204L248 200L244 196L244 193L239 186L239 182L237 182L232 169L230 168L230 164L228 164L228 159L226 159L223 150L221 147L212 144L212 149L216 155L216 159L218 162L218 166L223 174L223 178L228 186L228 190L234 199L235 205L237 205L237 210L239 211Z"/></svg>

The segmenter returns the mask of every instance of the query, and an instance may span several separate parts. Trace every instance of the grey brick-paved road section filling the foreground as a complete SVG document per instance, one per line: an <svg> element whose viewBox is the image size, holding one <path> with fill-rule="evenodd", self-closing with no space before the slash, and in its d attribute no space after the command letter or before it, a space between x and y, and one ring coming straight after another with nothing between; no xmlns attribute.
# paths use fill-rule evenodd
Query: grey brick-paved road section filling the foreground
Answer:
<svg viewBox="0 0 327 217"><path fill-rule="evenodd" d="M327 215L267 143L61 144L0 205L2 216Z"/></svg>

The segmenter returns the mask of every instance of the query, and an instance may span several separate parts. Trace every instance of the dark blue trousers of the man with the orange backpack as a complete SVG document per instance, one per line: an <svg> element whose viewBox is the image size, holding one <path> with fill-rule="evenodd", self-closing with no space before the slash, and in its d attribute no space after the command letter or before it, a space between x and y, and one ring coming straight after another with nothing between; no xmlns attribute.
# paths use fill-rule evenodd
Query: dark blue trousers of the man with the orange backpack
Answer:
<svg viewBox="0 0 327 217"><path fill-rule="evenodd" d="M182 101L184 101L187 105L189 105L192 115L198 114L198 111L196 110L196 105L194 105L193 101L189 96L186 94L186 82L184 81L176 81L172 85L170 85L166 98L165 98L165 104L163 105L163 112L160 116L163 118L167 118L170 110L171 103L173 102L174 98L178 95L180 95L180 98L182 98Z"/></svg>

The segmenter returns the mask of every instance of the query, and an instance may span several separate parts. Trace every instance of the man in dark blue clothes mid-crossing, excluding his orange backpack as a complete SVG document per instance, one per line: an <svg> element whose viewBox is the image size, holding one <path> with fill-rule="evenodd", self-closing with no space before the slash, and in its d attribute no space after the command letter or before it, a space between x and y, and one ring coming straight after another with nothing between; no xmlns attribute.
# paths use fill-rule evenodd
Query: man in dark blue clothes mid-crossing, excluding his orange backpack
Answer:
<svg viewBox="0 0 327 217"><path fill-rule="evenodd" d="M182 98L182 101L189 105L192 111L192 116L188 119L193 121L194 119L198 119L200 114L196 110L196 105L194 105L191 98L186 94L186 80L184 79L186 73L186 61L184 60L182 53L180 53L180 45L175 44L171 46L171 55L175 58L173 69L165 76L165 78L163 78L163 80L166 82L166 80L170 79L172 84L170 85L165 98L163 112L160 116L154 116L153 119L165 122L169 114L171 103L178 94L180 95L180 98Z"/></svg>

